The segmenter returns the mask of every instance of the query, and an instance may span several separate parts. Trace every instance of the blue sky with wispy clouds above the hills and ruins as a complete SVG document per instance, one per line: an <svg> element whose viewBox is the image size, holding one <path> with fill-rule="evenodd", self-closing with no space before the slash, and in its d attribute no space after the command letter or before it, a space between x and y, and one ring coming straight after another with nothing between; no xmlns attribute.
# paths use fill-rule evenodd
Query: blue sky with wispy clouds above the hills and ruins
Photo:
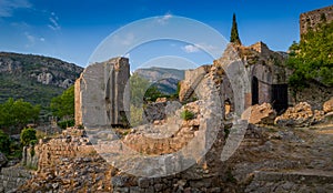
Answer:
<svg viewBox="0 0 333 193"><path fill-rule="evenodd" d="M299 40L300 13L331 4L332 0L0 0L0 51L42 54L85 67L109 34L137 20L186 17L229 39L233 12L243 44L263 41L273 50L286 51ZM183 42L168 44L183 51L175 57L196 51ZM150 49L173 55L165 47L162 41ZM140 49L131 53L135 65L155 60L135 58L147 53L144 47ZM198 60L211 62L204 57Z"/></svg>

